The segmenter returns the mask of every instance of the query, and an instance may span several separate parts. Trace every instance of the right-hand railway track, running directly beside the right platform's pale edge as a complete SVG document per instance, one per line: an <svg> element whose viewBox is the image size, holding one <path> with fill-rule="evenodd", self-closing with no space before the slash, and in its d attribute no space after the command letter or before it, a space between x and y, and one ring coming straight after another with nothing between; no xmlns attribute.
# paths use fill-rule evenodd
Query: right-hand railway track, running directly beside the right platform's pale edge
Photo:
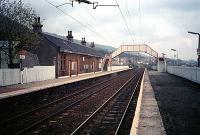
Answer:
<svg viewBox="0 0 200 135"><path fill-rule="evenodd" d="M129 79L71 135L128 135L134 117L142 73Z"/></svg>

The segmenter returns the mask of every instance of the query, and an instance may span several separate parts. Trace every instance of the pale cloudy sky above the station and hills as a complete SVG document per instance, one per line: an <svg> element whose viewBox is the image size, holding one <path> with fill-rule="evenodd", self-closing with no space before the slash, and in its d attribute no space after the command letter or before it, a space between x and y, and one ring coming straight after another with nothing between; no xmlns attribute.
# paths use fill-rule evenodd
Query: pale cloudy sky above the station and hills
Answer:
<svg viewBox="0 0 200 135"><path fill-rule="evenodd" d="M30 4L41 17L43 31L67 35L73 31L75 39L110 45L147 44L159 54L183 60L197 59L198 37L187 31L200 32L200 0L94 0L100 5L116 6L92 8L92 5L64 5L59 9L46 0L22 0ZM48 0L60 5L70 0ZM127 25L126 25L127 24ZM127 28L128 26L128 28Z"/></svg>

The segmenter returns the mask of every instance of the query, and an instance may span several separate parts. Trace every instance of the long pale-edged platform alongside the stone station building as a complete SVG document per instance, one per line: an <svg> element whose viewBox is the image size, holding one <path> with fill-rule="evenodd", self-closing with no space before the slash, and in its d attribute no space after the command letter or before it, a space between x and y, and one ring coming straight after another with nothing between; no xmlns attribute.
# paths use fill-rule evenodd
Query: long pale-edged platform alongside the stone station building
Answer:
<svg viewBox="0 0 200 135"><path fill-rule="evenodd" d="M61 77L58 79L51 79L51 80L45 80L45 81L0 87L0 99L22 95L22 94L26 94L26 93L30 93L34 91L44 90L47 88L65 85L65 84L82 81L86 79L91 79L95 77L100 77L100 76L104 76L108 74L113 74L113 73L121 72L124 70L128 70L128 68L118 69L118 70L113 70L113 71L105 71L105 72L85 73L85 74L79 74L78 76L72 76L72 77L66 76L66 77Z"/></svg>

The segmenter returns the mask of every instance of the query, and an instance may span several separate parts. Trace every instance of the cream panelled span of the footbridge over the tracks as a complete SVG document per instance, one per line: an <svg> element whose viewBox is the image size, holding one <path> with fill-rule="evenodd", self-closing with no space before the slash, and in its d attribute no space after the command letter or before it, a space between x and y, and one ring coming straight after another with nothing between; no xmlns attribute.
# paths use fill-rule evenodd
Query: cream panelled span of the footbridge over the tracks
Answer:
<svg viewBox="0 0 200 135"><path fill-rule="evenodd" d="M141 45L122 45L117 50L112 52L111 57L115 58L116 56L120 55L123 52L144 52L147 53L155 58L158 57L158 53L154 51L150 46L146 44Z"/></svg>

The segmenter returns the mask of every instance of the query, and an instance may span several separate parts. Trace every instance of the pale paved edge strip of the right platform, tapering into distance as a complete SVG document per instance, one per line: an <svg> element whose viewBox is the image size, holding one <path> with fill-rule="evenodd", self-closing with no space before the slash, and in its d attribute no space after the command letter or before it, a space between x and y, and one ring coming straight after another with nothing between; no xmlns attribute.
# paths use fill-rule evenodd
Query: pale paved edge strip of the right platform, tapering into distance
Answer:
<svg viewBox="0 0 200 135"><path fill-rule="evenodd" d="M148 72L145 71L138 97L131 135L165 135L162 118Z"/></svg>

